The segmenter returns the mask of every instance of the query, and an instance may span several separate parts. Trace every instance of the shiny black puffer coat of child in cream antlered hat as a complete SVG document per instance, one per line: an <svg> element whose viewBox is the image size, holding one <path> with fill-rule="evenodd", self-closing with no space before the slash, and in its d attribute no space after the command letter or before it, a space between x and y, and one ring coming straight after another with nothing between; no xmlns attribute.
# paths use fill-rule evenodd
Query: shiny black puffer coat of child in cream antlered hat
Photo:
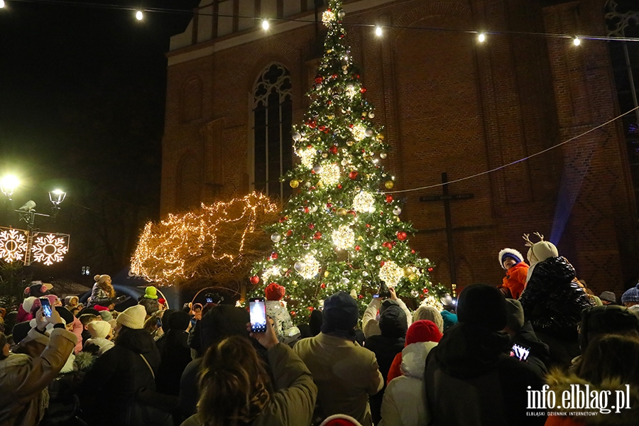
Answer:
<svg viewBox="0 0 639 426"><path fill-rule="evenodd" d="M577 342L581 311L592 306L563 256L537 263L519 301L535 332Z"/></svg>

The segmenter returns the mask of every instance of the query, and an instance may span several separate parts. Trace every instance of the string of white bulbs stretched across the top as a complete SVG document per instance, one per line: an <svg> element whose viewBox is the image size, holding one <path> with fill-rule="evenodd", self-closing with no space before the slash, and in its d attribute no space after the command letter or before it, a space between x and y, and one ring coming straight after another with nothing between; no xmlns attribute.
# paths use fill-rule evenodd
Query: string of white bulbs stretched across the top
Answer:
<svg viewBox="0 0 639 426"><path fill-rule="evenodd" d="M91 4L91 3L80 3L78 1L64 1L64 0L11 0L13 2L21 2L21 3L39 3L39 4L57 4L60 6L76 6L76 7L87 7L93 9L113 9L113 10L122 10L122 11L141 11L143 13L170 13L170 14L178 14L178 15L193 15L194 11L192 9L170 9L170 8L158 8L158 7L144 7L143 9L138 9L134 6L124 6L124 5L116 5L116 4ZM249 15L240 15L234 13L207 13L204 11L198 10L198 16L217 16L219 18L239 18L239 19L254 19L256 21L260 21L260 25L263 30L268 30L270 28L270 22L300 22L300 23L315 23L315 20L308 18L275 18L270 17L267 19L263 19L258 16L249 16ZM324 11L327 13L327 11ZM322 21L324 21L324 13L322 13ZM331 13L328 13L329 16ZM334 13L332 13L334 16ZM533 37L544 37L544 38L564 38L568 40L572 40L572 43L575 43L575 38L579 38L579 40L599 40L599 41L626 41L626 42L638 42L639 38L632 37L609 37L609 36L601 36L601 35L574 35L574 34L557 34L557 33L539 33L533 31L477 31L477 30L462 30L456 28L438 28L438 27L430 27L430 26L398 26L398 25L384 25L379 26L373 23L357 23L357 22L348 22L348 23L340 23L340 25L344 27L367 27L373 28L375 34L380 37L383 35L383 30L386 28L390 29L399 29L399 30L410 30L410 31L437 31L437 32L449 32L449 33L466 33L472 35L484 35L484 40L486 39L486 35L529 35ZM481 40L480 40L481 41Z"/></svg>

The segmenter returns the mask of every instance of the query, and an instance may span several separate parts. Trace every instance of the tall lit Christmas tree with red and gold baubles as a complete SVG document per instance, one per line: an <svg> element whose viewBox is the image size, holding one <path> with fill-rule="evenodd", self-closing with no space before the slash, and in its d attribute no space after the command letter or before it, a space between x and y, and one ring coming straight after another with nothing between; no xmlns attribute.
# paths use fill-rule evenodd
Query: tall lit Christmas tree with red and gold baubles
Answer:
<svg viewBox="0 0 639 426"><path fill-rule="evenodd" d="M342 0L330 0L322 14L324 57L305 123L292 135L300 163L282 178L299 192L266 227L273 253L251 277L253 295L269 283L283 285L297 322L339 290L355 297L361 312L382 282L439 309L447 292L431 283L430 261L408 245L413 227L401 221L399 202L381 191L394 186L380 165L388 146L344 45L344 15Z"/></svg>

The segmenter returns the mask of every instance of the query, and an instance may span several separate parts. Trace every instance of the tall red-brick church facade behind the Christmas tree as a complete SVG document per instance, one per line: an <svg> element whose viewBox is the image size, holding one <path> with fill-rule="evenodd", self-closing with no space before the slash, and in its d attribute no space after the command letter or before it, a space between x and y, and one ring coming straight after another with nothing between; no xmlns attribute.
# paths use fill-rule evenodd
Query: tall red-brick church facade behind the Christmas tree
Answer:
<svg viewBox="0 0 639 426"><path fill-rule="evenodd" d="M623 3L345 1L346 43L393 148L383 163L395 175L393 190L437 185L444 172L453 181L497 168L635 106L628 70L639 67L639 43L622 51L616 41L584 39L575 46L570 38L525 34L636 36L636 21L616 20L636 16ZM290 120L303 120L322 55L322 9L319 25L307 22L315 19L314 0L201 5L167 55L162 214L253 189L290 192L275 176L290 164L287 129ZM259 17L273 18L268 31ZM383 26L381 37L375 25ZM479 43L476 33L464 32L484 29L503 33ZM262 84L279 98L261 98ZM621 295L636 283L639 156L629 131L636 117L449 185L451 194L473 195L450 203L457 285L501 283L498 251L525 254L522 234L535 231L555 242L596 292ZM444 204L420 202L441 193L432 187L395 197L405 199L402 217L418 230L411 244L437 264L433 278L449 285Z"/></svg>

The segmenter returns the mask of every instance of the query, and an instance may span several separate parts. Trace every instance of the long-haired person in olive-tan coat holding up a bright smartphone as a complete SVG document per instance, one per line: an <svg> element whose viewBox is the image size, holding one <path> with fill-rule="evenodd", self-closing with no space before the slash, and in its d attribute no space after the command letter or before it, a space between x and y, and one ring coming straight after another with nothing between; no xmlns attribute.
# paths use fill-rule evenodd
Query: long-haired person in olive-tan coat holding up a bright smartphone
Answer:
<svg viewBox="0 0 639 426"><path fill-rule="evenodd" d="M246 327L268 350L275 383L249 339L227 337L204 355L197 414L182 426L310 425L317 386L300 357L278 342L271 319L263 313L263 299L258 299L250 308L258 322L249 322Z"/></svg>

